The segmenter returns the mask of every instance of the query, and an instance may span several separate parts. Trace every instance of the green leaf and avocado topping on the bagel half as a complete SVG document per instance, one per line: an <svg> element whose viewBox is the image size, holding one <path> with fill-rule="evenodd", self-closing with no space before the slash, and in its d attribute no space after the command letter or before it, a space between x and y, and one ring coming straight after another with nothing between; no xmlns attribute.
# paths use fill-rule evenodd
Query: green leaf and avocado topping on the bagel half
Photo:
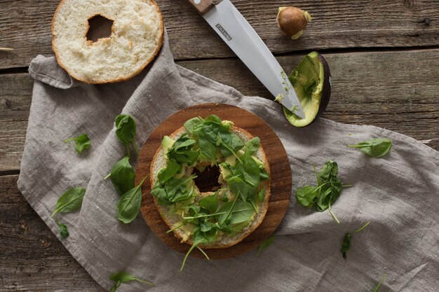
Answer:
<svg viewBox="0 0 439 292"><path fill-rule="evenodd" d="M171 230L180 230L191 249L245 231L264 207L269 181L266 165L257 158L263 153L259 138L241 139L233 123L215 115L187 120L174 138L163 137L166 167L151 190ZM217 186L201 192L197 178L210 167L219 169Z"/></svg>

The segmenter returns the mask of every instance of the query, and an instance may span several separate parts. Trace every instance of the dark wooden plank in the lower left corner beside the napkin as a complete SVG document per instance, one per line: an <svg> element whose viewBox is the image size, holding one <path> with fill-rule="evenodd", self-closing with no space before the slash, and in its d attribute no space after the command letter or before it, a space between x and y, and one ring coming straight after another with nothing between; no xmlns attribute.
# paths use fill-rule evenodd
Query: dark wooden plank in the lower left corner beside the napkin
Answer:
<svg viewBox="0 0 439 292"><path fill-rule="evenodd" d="M0 292L103 292L26 202L18 176L0 176Z"/></svg>

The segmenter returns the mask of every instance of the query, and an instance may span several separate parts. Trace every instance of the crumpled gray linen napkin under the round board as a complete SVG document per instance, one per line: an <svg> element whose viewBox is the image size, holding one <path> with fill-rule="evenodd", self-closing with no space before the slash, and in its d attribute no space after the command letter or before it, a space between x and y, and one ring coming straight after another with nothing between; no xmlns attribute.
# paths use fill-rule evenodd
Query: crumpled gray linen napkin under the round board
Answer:
<svg viewBox="0 0 439 292"><path fill-rule="evenodd" d="M156 286L130 282L118 291L438 291L439 155L396 132L342 125L320 119L306 129L292 127L281 106L240 92L177 66L168 39L155 62L130 81L87 85L74 81L53 57L36 57L25 153L18 188L58 235L51 211L68 188L87 188L81 211L61 214L69 225L67 249L104 288L109 275L126 270ZM337 98L336 96L333 98ZM137 145L170 114L204 102L234 104L264 119L281 138L292 169L292 198L277 239L256 251L224 260L189 258L165 246L139 216L124 225L116 219L119 195L102 178L126 153L114 132L114 117L128 113L137 122ZM87 133L91 148L81 155L64 139ZM384 158L347 148L374 137L393 140ZM330 214L297 204L294 190L315 183L311 165L332 159L353 188ZM272 165L271 167L276 167ZM339 249L345 232L370 226L353 237L347 262Z"/></svg>

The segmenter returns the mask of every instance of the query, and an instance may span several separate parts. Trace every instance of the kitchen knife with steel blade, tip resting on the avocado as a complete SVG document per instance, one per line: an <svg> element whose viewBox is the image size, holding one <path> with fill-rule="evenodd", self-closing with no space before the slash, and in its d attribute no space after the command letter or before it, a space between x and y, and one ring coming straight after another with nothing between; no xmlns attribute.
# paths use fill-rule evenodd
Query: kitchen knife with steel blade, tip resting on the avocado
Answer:
<svg viewBox="0 0 439 292"><path fill-rule="evenodd" d="M255 29L229 0L213 4L210 0L188 0L217 32L245 66L290 111L305 118L296 92L285 71Z"/></svg>

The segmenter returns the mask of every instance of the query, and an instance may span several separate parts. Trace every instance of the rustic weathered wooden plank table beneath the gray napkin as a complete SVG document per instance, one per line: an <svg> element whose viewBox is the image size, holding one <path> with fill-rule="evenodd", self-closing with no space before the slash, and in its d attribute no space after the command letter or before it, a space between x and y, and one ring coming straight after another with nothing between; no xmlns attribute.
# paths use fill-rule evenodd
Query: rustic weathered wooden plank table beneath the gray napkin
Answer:
<svg viewBox="0 0 439 292"><path fill-rule="evenodd" d="M177 64L271 95L184 0L157 1ZM407 134L439 149L439 1L233 0L285 71L319 50L332 71L324 117ZM311 13L292 41L276 27L278 6ZM76 263L17 189L32 100L29 62L52 55L50 21L58 0L0 0L0 291L103 291Z"/></svg>

